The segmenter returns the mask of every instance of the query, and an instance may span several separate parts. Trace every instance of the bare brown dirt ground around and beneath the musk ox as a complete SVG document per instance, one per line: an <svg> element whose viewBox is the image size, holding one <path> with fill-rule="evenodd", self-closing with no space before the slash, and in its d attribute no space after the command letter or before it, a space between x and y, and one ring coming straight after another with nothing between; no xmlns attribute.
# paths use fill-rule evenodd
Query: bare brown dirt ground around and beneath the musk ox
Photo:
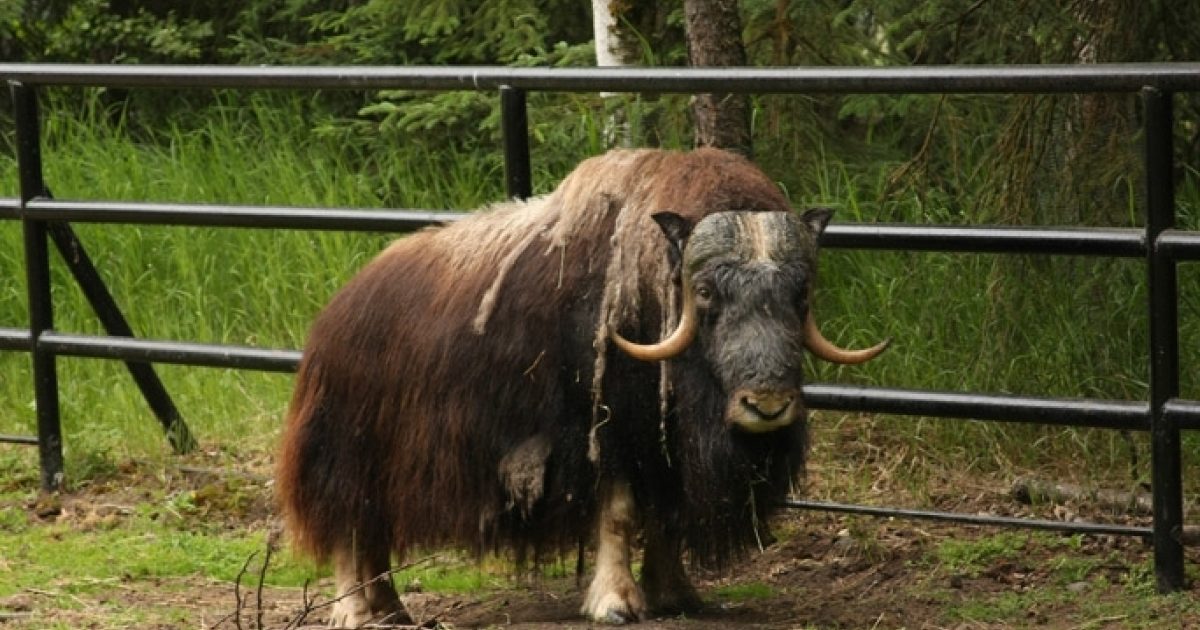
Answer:
<svg viewBox="0 0 1200 630"><path fill-rule="evenodd" d="M137 464L120 467L109 479L62 497L56 511L47 510L55 514L44 515L44 520L85 529L94 527L96 518L121 518L120 514L104 514L103 508L144 500L146 486L166 485L168 493L190 488L202 496L206 488L228 487L221 480L232 474L240 480L236 506L226 506L215 496L206 516L223 518L229 528L263 532L276 527L270 481L264 474L269 466L250 466L247 473L246 467L208 469L205 466L221 462L199 463L175 464L170 474L148 473ZM890 464L884 461L881 466ZM829 480L842 473L834 463L818 463L810 485L829 487ZM913 505L913 497L899 484L881 485L875 493L880 496L876 503ZM950 475L922 493L929 506L955 511L1147 523L1145 516L1115 516L1086 504L1030 506L1014 499L1002 479L973 475L967 482ZM36 503L24 508L31 520L37 518L32 512L46 510ZM1200 590L1189 587L1181 595L1154 594L1152 550L1139 539L799 510L781 514L774 529L779 534L774 545L732 569L692 575L706 601L703 611L647 619L637 628L1200 628ZM1012 533L1003 538L1003 532ZM959 546L948 546L952 544ZM1200 552L1189 548L1189 571L1198 563ZM574 559L564 564L574 565ZM532 584L500 580L506 586L469 595L413 589L403 600L425 628L590 628L578 614L581 589L574 571L560 574ZM151 622L143 628L318 628L325 625L328 607L322 605L328 602L329 582L325 578L300 589L259 588L253 575L240 587L194 576L125 576L89 588L68 610L55 607L55 593L26 588L0 598L0 629L120 628L106 618L128 608L151 612L146 616ZM170 612L155 614L157 610Z"/></svg>

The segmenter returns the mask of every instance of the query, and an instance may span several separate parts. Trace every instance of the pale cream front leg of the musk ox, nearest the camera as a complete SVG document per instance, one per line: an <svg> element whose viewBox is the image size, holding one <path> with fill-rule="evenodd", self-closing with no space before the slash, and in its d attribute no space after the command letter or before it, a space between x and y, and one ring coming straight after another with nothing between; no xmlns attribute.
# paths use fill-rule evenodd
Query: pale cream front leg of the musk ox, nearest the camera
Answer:
<svg viewBox="0 0 1200 630"><path fill-rule="evenodd" d="M630 546L636 528L634 492L625 481L606 484L596 526L596 575L583 600L594 622L623 624L646 616L646 598L634 581Z"/></svg>

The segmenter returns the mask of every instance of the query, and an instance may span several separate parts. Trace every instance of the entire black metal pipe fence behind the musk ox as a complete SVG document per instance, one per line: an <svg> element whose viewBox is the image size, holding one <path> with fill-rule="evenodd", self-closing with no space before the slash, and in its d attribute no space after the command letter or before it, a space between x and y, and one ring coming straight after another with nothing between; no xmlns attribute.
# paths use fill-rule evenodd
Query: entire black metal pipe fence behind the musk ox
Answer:
<svg viewBox="0 0 1200 630"><path fill-rule="evenodd" d="M1176 268L1200 259L1200 232L1175 228L1172 95L1200 91L1200 64L1092 66L928 66L907 68L509 68L509 67L242 67L0 64L12 91L17 125L19 198L0 198L0 220L19 220L24 234L29 325L0 328L0 350L32 356L37 436L0 442L40 449L42 487L62 485L58 356L125 361L175 449L194 440L152 364L185 364L289 372L300 353L140 340L101 281L71 222L408 232L460 218L421 210L355 210L56 200L42 176L37 90L43 86L494 90L503 109L509 194L530 193L526 94L536 91L650 92L875 92L875 94L1140 94L1144 119L1145 229L833 224L822 245L868 250L1039 253L1142 258L1150 316L1147 401L1051 398L810 384L817 409L896 413L995 421L1144 431L1151 436L1153 526L1066 523L953 512L788 502L793 508L977 524L1150 538L1159 590L1183 587L1183 428L1200 428L1200 401L1181 400ZM54 330L49 248L54 244L95 307L107 336Z"/></svg>

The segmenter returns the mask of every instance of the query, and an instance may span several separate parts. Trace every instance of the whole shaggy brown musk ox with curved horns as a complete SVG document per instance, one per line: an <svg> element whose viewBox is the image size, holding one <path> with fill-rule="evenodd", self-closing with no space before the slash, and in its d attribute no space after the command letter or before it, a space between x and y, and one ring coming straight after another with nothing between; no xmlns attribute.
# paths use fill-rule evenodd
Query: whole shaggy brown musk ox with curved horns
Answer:
<svg viewBox="0 0 1200 630"><path fill-rule="evenodd" d="M732 154L622 150L388 247L317 318L278 457L287 529L334 565L332 623L402 616L373 578L414 546L592 542L590 619L698 606L684 557L761 545L804 464L804 348L887 343L814 324L829 214Z"/></svg>

